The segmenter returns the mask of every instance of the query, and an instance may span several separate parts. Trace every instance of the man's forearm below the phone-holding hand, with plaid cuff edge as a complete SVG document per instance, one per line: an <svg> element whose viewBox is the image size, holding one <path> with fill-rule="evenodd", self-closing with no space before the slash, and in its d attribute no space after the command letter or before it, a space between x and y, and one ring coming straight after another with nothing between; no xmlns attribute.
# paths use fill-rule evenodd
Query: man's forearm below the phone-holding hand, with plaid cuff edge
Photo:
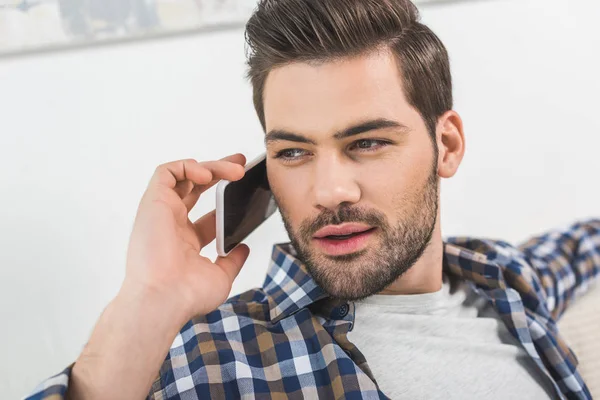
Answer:
<svg viewBox="0 0 600 400"><path fill-rule="evenodd" d="M162 300L158 294L123 288L102 313L77 362L28 399L145 398L177 327L186 322L182 307Z"/></svg>

